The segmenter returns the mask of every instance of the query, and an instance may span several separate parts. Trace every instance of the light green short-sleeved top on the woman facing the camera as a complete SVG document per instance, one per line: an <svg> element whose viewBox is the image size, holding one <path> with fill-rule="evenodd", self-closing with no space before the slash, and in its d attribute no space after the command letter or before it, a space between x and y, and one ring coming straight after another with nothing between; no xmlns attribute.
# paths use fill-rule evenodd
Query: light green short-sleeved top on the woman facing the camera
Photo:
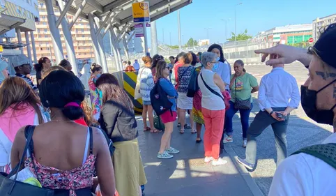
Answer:
<svg viewBox="0 0 336 196"><path fill-rule="evenodd" d="M234 77L234 74L231 75L230 81ZM246 100L251 98L252 87L258 86L257 78L255 78L250 73L245 73L243 76L238 76L236 82L231 86L231 101L236 103L236 94L237 98L240 100Z"/></svg>

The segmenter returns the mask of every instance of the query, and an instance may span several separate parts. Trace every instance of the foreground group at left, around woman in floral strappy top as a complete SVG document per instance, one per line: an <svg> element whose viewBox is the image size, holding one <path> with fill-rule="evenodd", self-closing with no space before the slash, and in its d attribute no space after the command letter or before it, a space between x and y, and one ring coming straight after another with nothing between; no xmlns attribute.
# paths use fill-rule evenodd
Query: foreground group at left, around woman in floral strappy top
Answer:
<svg viewBox="0 0 336 196"><path fill-rule="evenodd" d="M22 162L17 179L34 178L55 195L142 195L147 181L137 122L132 100L116 77L93 63L89 106L84 84L66 59L50 67L50 60L41 58L34 66L38 87L27 76L32 66L26 56L17 56L10 66L15 77L0 86L2 176L12 176ZM26 144L31 149L22 160Z"/></svg>

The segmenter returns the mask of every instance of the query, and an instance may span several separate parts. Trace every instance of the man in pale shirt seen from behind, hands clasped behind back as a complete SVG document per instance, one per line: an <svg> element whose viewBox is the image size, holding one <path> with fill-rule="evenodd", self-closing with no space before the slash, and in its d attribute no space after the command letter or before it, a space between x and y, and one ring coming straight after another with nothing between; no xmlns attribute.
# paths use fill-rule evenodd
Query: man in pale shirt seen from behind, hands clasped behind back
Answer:
<svg viewBox="0 0 336 196"><path fill-rule="evenodd" d="M300 103L300 93L295 78L284 70L284 64L273 65L270 73L261 78L258 102L260 112L247 130L246 159L238 162L254 169L257 160L257 137L272 126L277 149L277 165L287 157L287 125L289 112Z"/></svg>

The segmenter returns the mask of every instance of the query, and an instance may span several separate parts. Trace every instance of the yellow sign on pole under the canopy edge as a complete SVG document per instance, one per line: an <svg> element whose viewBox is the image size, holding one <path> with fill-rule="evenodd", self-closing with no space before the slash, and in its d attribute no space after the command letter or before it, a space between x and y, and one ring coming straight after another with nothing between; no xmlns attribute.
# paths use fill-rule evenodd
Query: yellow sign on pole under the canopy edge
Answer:
<svg viewBox="0 0 336 196"><path fill-rule="evenodd" d="M132 3L133 21L134 22L150 22L149 3L142 1L139 3Z"/></svg>

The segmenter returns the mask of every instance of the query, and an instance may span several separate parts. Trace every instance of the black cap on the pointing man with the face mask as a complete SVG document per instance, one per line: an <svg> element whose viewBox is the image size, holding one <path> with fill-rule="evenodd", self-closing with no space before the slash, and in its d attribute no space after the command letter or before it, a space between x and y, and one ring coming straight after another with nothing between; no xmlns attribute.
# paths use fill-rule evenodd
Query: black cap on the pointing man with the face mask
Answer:
<svg viewBox="0 0 336 196"><path fill-rule="evenodd" d="M316 41L314 48L316 54L319 55L322 61L329 66L336 68L335 54L336 54L336 23L330 24L323 33L319 40Z"/></svg>

